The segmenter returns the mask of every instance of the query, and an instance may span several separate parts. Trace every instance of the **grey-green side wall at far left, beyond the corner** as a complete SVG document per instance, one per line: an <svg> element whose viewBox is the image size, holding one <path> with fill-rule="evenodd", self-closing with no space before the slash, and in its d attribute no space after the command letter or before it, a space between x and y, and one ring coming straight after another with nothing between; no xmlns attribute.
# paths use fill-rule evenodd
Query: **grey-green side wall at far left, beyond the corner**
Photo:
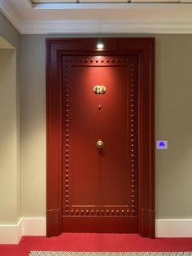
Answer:
<svg viewBox="0 0 192 256"><path fill-rule="evenodd" d="M20 33L0 13L0 224L20 219Z"/></svg>

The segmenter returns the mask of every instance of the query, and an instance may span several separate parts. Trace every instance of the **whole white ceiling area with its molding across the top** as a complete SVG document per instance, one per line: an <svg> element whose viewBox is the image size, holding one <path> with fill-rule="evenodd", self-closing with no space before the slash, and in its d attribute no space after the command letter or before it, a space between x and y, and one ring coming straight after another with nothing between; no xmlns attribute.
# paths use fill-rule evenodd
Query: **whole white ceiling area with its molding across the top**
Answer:
<svg viewBox="0 0 192 256"><path fill-rule="evenodd" d="M0 11L20 33L192 33L192 0L0 0Z"/></svg>

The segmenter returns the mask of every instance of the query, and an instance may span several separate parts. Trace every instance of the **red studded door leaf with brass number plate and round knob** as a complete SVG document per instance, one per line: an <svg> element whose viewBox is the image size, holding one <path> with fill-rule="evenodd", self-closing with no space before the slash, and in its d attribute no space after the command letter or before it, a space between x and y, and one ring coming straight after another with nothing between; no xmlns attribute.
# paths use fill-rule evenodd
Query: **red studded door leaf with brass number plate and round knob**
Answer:
<svg viewBox="0 0 192 256"><path fill-rule="evenodd" d="M137 232L137 55L62 67L63 232Z"/></svg>

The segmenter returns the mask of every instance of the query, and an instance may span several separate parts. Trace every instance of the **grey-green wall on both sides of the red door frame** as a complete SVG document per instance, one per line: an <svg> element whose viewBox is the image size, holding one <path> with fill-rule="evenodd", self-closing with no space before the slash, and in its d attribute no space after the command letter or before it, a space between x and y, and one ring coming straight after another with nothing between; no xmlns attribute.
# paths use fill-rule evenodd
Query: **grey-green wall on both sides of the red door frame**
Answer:
<svg viewBox="0 0 192 256"><path fill-rule="evenodd" d="M20 35L0 15L0 33L16 49L18 204L22 217L46 216L46 38L104 35ZM192 218L192 35L107 34L107 37L155 37L156 218ZM19 90L20 89L20 90ZM19 97L20 96L20 97ZM20 108L18 105L20 102ZM20 121L20 126L18 124ZM0 173L1 173L0 169ZM9 184L7 183L7 186ZM21 193L20 193L21 188ZM20 208L20 207L19 207ZM10 218L13 222L15 218Z"/></svg>

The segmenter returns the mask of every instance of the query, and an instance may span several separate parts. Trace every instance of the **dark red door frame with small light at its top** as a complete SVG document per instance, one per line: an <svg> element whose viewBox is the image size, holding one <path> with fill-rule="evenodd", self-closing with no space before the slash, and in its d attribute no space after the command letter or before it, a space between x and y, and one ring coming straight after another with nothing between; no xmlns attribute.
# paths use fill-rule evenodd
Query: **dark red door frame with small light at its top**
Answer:
<svg viewBox="0 0 192 256"><path fill-rule="evenodd" d="M62 55L138 56L138 233L155 237L155 38L46 39L46 236L62 232Z"/></svg>

